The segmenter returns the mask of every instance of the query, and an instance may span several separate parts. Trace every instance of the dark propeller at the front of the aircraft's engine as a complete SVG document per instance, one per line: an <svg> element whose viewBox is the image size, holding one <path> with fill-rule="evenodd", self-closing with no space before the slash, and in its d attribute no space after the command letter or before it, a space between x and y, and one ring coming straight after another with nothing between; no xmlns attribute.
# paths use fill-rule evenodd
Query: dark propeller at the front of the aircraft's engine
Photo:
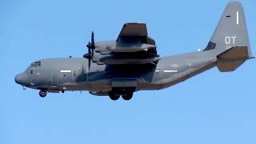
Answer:
<svg viewBox="0 0 256 144"><path fill-rule="evenodd" d="M86 45L88 53L84 54L83 57L88 59L88 67L90 70L90 62L94 58L95 42L94 42L94 31L91 33L90 42Z"/></svg>

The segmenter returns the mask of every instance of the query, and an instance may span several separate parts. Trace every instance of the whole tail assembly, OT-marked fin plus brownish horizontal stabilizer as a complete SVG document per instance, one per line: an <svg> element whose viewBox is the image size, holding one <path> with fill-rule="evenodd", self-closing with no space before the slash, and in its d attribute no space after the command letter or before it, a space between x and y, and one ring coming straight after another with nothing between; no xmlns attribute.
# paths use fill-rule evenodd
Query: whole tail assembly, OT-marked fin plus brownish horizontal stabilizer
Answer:
<svg viewBox="0 0 256 144"><path fill-rule="evenodd" d="M233 71L252 58L246 18L240 2L230 2L218 22L206 50L218 58L218 70Z"/></svg>

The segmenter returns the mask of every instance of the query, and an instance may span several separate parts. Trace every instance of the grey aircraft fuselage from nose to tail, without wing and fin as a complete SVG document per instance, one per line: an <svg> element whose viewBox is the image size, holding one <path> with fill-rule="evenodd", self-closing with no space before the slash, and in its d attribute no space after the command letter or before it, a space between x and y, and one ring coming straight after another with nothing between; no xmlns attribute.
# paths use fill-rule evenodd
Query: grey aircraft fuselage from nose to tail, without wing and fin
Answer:
<svg viewBox="0 0 256 144"><path fill-rule="evenodd" d="M16 82L33 89L50 92L90 90L91 94L107 95L113 88L160 90L214 66L216 58L208 51L160 58L156 65L98 65L90 70L86 58L50 58L32 63ZM139 73L138 73L139 71Z"/></svg>

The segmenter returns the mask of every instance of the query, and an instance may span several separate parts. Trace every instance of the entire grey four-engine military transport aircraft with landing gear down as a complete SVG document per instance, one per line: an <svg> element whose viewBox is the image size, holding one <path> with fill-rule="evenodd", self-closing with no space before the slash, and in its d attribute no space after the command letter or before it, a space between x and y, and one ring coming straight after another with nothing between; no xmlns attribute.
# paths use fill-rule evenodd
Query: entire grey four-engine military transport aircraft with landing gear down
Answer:
<svg viewBox="0 0 256 144"><path fill-rule="evenodd" d="M94 42L83 58L50 58L32 62L15 82L47 92L89 90L90 94L130 100L138 90L161 90L214 66L233 71L253 58L242 4L230 2L210 42L202 51L161 58L145 23L126 23L114 41Z"/></svg>

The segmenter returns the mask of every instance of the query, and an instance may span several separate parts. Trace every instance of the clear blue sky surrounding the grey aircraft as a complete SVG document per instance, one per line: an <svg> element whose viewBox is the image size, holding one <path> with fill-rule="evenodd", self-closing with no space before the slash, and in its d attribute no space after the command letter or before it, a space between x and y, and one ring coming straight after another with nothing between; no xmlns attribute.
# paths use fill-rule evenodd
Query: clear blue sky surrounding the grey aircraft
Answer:
<svg viewBox="0 0 256 144"><path fill-rule="evenodd" d="M255 60L125 102L87 91L38 96L14 82L40 58L81 58L124 22L146 22L161 56L203 49L230 0L0 1L0 143L256 143ZM256 1L241 0L256 54Z"/></svg>

